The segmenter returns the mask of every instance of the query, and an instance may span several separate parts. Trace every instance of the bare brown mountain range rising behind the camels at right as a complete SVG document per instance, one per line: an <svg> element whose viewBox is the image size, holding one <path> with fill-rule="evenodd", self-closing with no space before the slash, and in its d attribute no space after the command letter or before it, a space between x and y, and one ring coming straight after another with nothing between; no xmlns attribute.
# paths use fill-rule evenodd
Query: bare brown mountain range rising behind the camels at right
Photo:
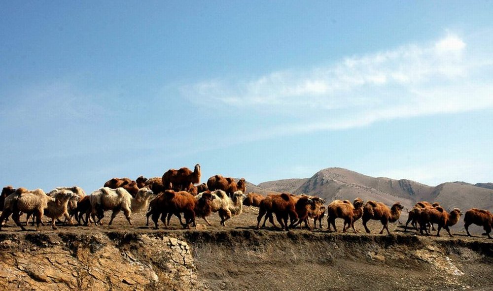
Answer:
<svg viewBox="0 0 493 291"><path fill-rule="evenodd" d="M304 193L318 195L327 202L360 197L365 201L382 201L387 205L399 201L405 208L411 209L416 202L426 200L437 201L447 210L457 207L465 212L475 207L493 211L493 189L489 189L490 186L493 188L493 183L473 185L448 182L433 187L406 179L376 178L348 169L327 168L308 179L285 179L251 185L252 188L247 186L247 192Z"/></svg>

